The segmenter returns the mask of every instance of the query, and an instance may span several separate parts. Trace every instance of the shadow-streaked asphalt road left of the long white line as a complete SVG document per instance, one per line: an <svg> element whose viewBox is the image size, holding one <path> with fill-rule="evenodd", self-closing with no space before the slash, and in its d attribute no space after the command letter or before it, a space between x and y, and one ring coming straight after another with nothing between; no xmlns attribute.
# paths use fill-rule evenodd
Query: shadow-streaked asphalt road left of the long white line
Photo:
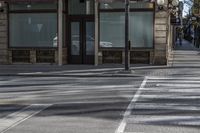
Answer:
<svg viewBox="0 0 200 133"><path fill-rule="evenodd" d="M1 76L0 133L114 133L142 81Z"/></svg>

